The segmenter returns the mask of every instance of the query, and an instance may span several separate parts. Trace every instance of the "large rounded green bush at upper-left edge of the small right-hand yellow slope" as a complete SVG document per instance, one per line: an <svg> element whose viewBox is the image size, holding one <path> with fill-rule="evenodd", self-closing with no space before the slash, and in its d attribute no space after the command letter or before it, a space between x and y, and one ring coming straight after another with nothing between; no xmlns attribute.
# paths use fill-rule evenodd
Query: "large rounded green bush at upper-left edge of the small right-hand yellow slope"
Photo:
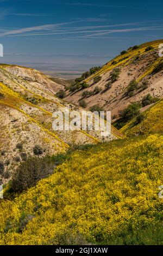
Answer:
<svg viewBox="0 0 163 256"><path fill-rule="evenodd" d="M138 114L140 114L140 104L136 102L131 103L127 108L121 111L121 117L124 123L131 120Z"/></svg>

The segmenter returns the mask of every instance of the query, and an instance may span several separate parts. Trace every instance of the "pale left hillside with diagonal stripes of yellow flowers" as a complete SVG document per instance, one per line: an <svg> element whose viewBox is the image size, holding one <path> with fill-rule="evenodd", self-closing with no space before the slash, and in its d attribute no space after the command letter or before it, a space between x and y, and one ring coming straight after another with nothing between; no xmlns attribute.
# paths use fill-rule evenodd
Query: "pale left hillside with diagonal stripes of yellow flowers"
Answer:
<svg viewBox="0 0 163 256"><path fill-rule="evenodd" d="M39 156L64 152L72 144L97 144L123 138L112 127L110 136L99 131L54 131L54 111L70 108L83 109L55 96L63 86L49 80L39 71L15 65L0 64L0 182L5 183L24 157L34 156L39 145Z"/></svg>

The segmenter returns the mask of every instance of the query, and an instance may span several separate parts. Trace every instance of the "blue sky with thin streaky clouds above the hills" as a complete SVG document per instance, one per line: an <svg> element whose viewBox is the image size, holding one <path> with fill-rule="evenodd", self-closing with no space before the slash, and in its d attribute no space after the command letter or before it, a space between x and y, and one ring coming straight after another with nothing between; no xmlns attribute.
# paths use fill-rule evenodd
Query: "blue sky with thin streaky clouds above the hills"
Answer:
<svg viewBox="0 0 163 256"><path fill-rule="evenodd" d="M103 64L163 38L162 9L147 0L0 0L0 62Z"/></svg>

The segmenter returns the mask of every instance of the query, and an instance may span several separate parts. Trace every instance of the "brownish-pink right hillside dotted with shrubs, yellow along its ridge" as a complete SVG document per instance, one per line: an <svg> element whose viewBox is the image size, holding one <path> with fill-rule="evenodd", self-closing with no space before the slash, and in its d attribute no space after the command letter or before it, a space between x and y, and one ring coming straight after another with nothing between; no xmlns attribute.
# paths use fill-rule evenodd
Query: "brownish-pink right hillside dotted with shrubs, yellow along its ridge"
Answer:
<svg viewBox="0 0 163 256"><path fill-rule="evenodd" d="M122 52L91 76L85 74L87 78L83 81L88 87L85 85L87 88L81 89L77 84L73 92L67 92L65 99L76 104L85 100L86 109L98 104L111 111L112 119L115 119L122 109L131 102L142 100L147 94L161 98L163 59L159 57L158 47L162 42L147 42ZM156 69L159 65L160 69ZM131 88L133 80L137 82L135 88Z"/></svg>

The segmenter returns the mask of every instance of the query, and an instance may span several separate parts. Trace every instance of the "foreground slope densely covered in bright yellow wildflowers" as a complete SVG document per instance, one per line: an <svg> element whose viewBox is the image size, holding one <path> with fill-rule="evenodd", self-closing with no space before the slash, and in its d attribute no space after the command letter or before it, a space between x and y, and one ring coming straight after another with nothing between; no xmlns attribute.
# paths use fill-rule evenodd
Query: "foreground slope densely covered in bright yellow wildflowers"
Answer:
<svg viewBox="0 0 163 256"><path fill-rule="evenodd" d="M1 245L163 244L163 136L98 144L1 200Z"/></svg>

